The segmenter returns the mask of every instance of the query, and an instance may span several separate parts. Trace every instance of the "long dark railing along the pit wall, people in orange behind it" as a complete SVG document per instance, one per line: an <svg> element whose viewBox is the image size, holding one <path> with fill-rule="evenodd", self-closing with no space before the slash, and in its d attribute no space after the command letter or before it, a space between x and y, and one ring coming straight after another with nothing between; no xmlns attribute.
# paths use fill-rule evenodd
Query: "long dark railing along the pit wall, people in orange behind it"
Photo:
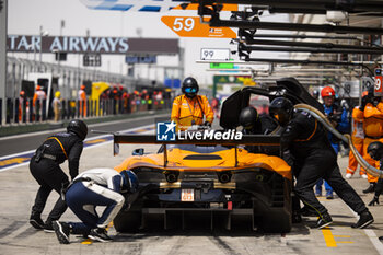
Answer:
<svg viewBox="0 0 383 255"><path fill-rule="evenodd" d="M0 98L0 119L2 119L2 107L5 107L5 125L11 124L33 124L53 120L63 120L72 118L95 118L109 115L131 114L152 109L171 108L171 100L86 100L72 101L61 100L61 107L56 109L54 104L47 111L47 101L37 100L35 104L32 98L7 98L5 105ZM58 114L55 118L55 113ZM0 126L3 125L0 121Z"/></svg>

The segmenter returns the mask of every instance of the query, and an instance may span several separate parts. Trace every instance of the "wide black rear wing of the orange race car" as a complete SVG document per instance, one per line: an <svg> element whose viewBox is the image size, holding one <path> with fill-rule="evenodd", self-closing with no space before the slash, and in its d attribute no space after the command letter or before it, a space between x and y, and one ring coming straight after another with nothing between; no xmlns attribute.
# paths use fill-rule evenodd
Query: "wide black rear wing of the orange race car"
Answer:
<svg viewBox="0 0 383 255"><path fill-rule="evenodd" d="M119 153L119 144L163 144L164 146L164 166L167 164L166 144L195 144L195 146L233 146L235 148L235 166L237 164L237 146L277 146L282 158L283 148L281 144L281 137L276 135L242 135L239 140L222 140L222 139L177 139L173 141L159 141L155 135L113 135L113 153Z"/></svg>

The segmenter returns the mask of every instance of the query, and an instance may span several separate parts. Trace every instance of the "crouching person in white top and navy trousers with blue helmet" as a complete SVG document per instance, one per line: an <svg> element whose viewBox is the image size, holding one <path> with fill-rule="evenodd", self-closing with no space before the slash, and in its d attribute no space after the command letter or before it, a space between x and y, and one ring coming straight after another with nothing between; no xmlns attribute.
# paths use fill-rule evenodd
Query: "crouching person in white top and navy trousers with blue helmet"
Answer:
<svg viewBox="0 0 383 255"><path fill-rule="evenodd" d="M61 244L69 244L70 234L82 234L100 242L109 242L106 227L123 208L121 193L135 193L138 178L131 171L118 173L113 169L92 169L76 177L66 192L69 208L82 222L54 222L54 229ZM98 217L96 206L105 206Z"/></svg>

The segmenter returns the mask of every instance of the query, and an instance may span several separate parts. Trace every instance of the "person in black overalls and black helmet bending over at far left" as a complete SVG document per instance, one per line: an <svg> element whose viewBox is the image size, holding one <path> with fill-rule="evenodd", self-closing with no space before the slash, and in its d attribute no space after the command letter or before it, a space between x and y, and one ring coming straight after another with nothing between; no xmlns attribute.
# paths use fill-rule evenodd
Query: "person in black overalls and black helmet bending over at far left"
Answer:
<svg viewBox="0 0 383 255"><path fill-rule="evenodd" d="M30 223L35 229L54 232L51 222L58 220L67 210L66 202L58 198L45 223L40 218L50 192L55 189L60 194L61 188L69 184L68 176L61 170L60 164L68 160L71 179L79 174L79 160L86 134L86 124L79 119L71 120L68 124L67 132L48 137L32 157L31 174L40 185L30 218Z"/></svg>

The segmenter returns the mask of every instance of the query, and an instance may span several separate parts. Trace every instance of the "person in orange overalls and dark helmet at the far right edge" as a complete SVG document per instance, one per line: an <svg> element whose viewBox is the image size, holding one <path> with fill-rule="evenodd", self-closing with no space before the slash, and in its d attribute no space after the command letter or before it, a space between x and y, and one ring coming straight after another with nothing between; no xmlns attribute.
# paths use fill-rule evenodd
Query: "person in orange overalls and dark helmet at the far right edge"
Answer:
<svg viewBox="0 0 383 255"><path fill-rule="evenodd" d="M370 165L375 165L375 161L367 153L367 148L371 142L383 142L383 102L381 97L374 96L374 86L369 89L367 96L362 98L362 105L356 109L356 119L363 123L363 158ZM370 186L363 193L373 193L378 177L368 175Z"/></svg>

